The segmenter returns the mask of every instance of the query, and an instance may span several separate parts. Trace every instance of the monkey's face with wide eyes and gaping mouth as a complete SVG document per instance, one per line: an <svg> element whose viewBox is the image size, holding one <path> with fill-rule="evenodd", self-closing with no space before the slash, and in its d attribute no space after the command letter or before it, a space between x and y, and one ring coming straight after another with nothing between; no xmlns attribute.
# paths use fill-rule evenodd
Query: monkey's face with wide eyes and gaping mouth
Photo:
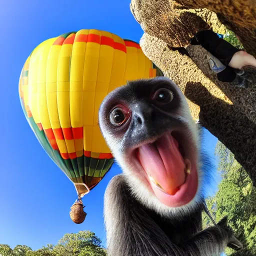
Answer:
<svg viewBox="0 0 256 256"><path fill-rule="evenodd" d="M179 207L194 198L195 124L175 83L157 77L113 90L99 108L99 126L124 173L136 177L161 203Z"/></svg>

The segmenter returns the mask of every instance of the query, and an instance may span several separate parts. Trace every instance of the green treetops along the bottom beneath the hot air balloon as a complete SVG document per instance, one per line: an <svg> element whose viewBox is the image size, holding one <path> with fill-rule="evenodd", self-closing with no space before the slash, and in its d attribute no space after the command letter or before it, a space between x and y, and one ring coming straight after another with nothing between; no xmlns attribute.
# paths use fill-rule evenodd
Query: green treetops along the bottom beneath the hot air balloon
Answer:
<svg viewBox="0 0 256 256"><path fill-rule="evenodd" d="M33 251L26 245L17 245L11 249L7 244L0 244L1 256L106 256L106 250L100 245L101 240L91 231L67 233L56 245L47 244Z"/></svg>

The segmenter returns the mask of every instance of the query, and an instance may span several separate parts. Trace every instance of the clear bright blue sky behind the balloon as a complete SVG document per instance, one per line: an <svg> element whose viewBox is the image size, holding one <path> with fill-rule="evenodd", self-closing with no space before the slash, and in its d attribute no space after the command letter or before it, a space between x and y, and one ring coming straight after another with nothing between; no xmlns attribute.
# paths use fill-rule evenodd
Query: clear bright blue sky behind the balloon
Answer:
<svg viewBox="0 0 256 256"><path fill-rule="evenodd" d="M37 249L56 243L64 233L88 229L105 242L103 193L114 165L87 194L86 220L69 218L76 199L73 184L37 142L18 97L20 70L32 49L43 40L82 28L97 28L138 41L139 24L129 11L130 0L8 0L0 1L1 143L0 243ZM213 155L217 141L205 133L204 146ZM214 188L215 189L215 188Z"/></svg>

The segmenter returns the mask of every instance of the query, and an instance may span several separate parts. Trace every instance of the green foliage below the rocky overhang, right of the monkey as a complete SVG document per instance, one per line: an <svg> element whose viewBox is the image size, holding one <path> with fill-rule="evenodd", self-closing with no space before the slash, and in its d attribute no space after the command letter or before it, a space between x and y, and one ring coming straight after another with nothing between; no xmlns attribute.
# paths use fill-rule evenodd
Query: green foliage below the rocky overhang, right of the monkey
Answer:
<svg viewBox="0 0 256 256"><path fill-rule="evenodd" d="M209 211L216 221L226 215L228 224L243 243L244 249L232 255L256 255L256 189L246 171L222 143L217 143L215 153L220 159L218 171L222 180L216 195L206 199ZM211 224L204 214L203 227ZM232 252L226 249L227 255Z"/></svg>

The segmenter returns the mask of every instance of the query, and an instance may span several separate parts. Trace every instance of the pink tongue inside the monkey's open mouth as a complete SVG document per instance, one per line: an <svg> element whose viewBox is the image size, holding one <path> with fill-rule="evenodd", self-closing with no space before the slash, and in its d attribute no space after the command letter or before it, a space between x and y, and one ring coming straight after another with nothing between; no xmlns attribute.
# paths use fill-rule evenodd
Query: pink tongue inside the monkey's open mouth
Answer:
<svg viewBox="0 0 256 256"><path fill-rule="evenodd" d="M155 143L142 145L137 156L144 170L166 193L174 195L185 182L184 160L171 134L164 134Z"/></svg>

